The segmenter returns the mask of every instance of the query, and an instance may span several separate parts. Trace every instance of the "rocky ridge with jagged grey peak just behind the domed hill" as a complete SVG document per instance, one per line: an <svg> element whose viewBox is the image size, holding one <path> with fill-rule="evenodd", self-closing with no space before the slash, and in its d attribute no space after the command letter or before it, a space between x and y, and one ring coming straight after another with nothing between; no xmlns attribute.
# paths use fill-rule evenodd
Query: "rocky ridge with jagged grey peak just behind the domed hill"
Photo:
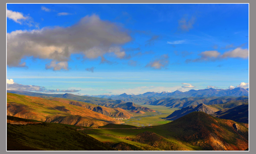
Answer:
<svg viewBox="0 0 256 154"><path fill-rule="evenodd" d="M197 106L188 106L188 107L184 107L180 110L176 110L174 111L172 114L170 114L169 116L167 116L165 119L166 120L176 120L180 117L183 117L191 112L195 112L195 111L202 111L204 113L207 114L213 114L216 111L218 111L218 109L213 108L213 107L209 107L205 104L199 104Z"/></svg>

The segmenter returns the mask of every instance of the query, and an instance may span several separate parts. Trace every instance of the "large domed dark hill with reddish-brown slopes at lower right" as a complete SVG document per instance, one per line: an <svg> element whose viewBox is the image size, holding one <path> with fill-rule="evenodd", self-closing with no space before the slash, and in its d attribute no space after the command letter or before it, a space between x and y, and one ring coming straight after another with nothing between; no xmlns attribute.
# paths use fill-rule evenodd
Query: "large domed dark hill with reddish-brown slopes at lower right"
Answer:
<svg viewBox="0 0 256 154"><path fill-rule="evenodd" d="M245 150L248 148L248 124L192 112L170 123L154 126L204 150Z"/></svg>

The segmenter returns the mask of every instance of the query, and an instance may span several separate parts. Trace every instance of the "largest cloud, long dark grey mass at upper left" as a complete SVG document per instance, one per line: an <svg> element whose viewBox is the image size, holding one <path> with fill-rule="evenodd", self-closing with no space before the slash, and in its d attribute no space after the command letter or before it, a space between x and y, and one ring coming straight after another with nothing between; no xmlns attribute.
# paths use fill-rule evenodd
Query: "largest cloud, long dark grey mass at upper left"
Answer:
<svg viewBox="0 0 256 154"><path fill-rule="evenodd" d="M89 59L98 58L105 53L113 53L122 58L125 52L121 51L119 45L130 40L131 36L126 30L101 20L97 15L86 16L78 23L65 28L17 30L7 33L7 65L18 66L26 56L67 62L72 53L82 53L84 58Z"/></svg>

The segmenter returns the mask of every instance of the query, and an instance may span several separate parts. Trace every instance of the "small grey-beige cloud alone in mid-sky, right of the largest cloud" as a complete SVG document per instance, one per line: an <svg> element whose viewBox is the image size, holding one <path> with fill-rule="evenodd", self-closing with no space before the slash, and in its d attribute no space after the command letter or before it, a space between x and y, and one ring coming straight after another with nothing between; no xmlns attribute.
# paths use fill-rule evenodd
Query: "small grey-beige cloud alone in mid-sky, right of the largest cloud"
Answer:
<svg viewBox="0 0 256 154"><path fill-rule="evenodd" d="M161 69L165 68L169 63L169 56L168 54L163 54L159 58L156 58L155 60L151 61L146 65L146 67L152 67L154 69Z"/></svg>

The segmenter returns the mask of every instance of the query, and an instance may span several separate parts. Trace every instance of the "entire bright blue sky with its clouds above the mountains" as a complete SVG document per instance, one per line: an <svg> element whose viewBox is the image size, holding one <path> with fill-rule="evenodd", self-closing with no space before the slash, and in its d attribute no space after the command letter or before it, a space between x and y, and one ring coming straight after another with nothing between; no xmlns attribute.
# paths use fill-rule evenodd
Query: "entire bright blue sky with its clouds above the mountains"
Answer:
<svg viewBox="0 0 256 154"><path fill-rule="evenodd" d="M248 4L7 4L7 89L247 88L248 12Z"/></svg>

